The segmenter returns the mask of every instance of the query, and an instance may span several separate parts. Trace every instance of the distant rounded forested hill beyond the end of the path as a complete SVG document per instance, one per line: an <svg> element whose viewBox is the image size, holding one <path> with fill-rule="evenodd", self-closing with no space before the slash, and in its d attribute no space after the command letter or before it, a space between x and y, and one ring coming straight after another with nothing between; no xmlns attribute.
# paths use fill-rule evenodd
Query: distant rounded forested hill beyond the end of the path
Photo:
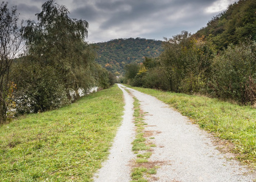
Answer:
<svg viewBox="0 0 256 182"><path fill-rule="evenodd" d="M94 45L96 61L117 76L123 74L126 64L143 62L144 57L155 58L162 51L162 41L143 38L114 39Z"/></svg>

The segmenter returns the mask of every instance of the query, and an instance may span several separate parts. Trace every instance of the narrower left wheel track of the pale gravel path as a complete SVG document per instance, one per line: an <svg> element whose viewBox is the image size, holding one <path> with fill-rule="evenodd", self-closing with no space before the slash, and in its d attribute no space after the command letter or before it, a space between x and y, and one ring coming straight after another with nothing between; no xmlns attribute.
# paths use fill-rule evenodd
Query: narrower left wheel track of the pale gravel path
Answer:
<svg viewBox="0 0 256 182"><path fill-rule="evenodd" d="M102 168L94 176L94 181L98 182L125 182L130 181L130 161L135 158L132 152L132 141L135 138L133 124L133 98L123 88L124 93L123 123L116 133L113 146L110 149L108 160L102 164Z"/></svg>

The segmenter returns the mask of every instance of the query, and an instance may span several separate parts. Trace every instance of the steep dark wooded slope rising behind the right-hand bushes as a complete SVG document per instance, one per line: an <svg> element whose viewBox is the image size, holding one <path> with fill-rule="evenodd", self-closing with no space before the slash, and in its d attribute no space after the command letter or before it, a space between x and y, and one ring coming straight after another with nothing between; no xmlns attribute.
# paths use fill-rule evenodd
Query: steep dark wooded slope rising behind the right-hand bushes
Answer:
<svg viewBox="0 0 256 182"><path fill-rule="evenodd" d="M212 42L218 50L230 43L238 44L249 38L256 40L256 1L243 0L229 5L199 30L196 37Z"/></svg>

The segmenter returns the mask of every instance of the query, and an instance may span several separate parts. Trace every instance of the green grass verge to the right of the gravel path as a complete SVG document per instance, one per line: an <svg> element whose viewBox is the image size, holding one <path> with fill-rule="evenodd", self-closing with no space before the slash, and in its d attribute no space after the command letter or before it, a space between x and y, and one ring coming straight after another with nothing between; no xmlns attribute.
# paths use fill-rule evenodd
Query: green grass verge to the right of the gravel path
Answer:
<svg viewBox="0 0 256 182"><path fill-rule="evenodd" d="M132 88L155 96L191 118L202 129L230 141L230 150L236 153L236 158L256 169L256 109L205 96Z"/></svg>

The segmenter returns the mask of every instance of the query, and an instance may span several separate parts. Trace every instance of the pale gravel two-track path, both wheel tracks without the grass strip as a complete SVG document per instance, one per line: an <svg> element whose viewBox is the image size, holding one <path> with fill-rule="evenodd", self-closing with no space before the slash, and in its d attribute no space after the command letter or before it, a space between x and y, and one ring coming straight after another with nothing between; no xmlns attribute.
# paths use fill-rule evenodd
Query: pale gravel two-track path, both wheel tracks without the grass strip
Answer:
<svg viewBox="0 0 256 182"><path fill-rule="evenodd" d="M118 85L122 90L124 86ZM129 88L126 88L129 89ZM211 136L199 129L196 124L191 124L188 118L180 115L179 112L172 110L168 105L162 103L153 96L146 95L138 92L137 90L129 89L133 96L135 96L141 104L141 109L146 113L144 116L145 123L148 126L145 127L146 133L151 133L149 137L156 147L152 147L152 156L149 161L160 166L157 169L157 174L153 175L153 178L149 178L149 181L173 181L173 182L189 182L189 181L254 181L255 174L250 174L244 167L240 166L237 161L230 160L224 154L216 150L216 146L213 144ZM130 104L132 96L128 95L125 90L124 98L126 104ZM129 101L127 101L129 98ZM131 109L132 106L129 106ZM127 110L126 110L127 112ZM129 114L131 111L129 111ZM130 153L130 143L134 137L134 131L131 121L124 116L124 121L129 123L129 127L119 129L119 132L131 132L124 135L116 135L116 140L121 136L121 144L117 144L110 151L110 160L107 161L108 167L118 168L112 172L112 168L108 169L105 176L101 177L103 181L130 181L128 175L129 160L131 161L135 156ZM129 120L132 117L129 115ZM125 124L125 122L123 123ZM122 143L123 141L123 143ZM126 147L127 154L124 152L115 153L115 158L124 158L118 155L126 155L126 161L116 160L112 163L112 152L120 150L124 143L128 143L129 147ZM130 148L130 151L128 151ZM120 163L120 164L119 164ZM123 166L123 167L121 167ZM104 166L105 167L105 166ZM103 167L103 168L104 168ZM107 167L107 168L108 168ZM102 168L102 169L103 169ZM124 175L126 178L122 178ZM104 175L104 174L102 174ZM117 177L118 176L118 177ZM106 180L106 177L108 179ZM99 179L99 178L98 178ZM98 180L96 180L98 181Z"/></svg>

